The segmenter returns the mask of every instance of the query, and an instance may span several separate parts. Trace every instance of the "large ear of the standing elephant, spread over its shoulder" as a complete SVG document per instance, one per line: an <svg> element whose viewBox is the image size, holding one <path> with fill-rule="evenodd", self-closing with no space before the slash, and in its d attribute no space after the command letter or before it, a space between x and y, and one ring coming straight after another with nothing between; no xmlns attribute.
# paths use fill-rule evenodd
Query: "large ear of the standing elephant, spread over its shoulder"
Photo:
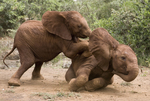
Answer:
<svg viewBox="0 0 150 101"><path fill-rule="evenodd" d="M46 30L65 40L71 40L72 36L65 25L66 12L47 11L42 16L42 24Z"/></svg>

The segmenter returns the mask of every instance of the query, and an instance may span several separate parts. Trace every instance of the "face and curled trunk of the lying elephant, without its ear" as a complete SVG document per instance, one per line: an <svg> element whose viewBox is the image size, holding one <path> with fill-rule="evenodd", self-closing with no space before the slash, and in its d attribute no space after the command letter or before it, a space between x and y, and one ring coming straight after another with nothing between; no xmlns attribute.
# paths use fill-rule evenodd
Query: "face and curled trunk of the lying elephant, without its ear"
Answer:
<svg viewBox="0 0 150 101"><path fill-rule="evenodd" d="M120 44L113 50L112 65L113 73L127 82L134 80L139 73L137 57L127 45Z"/></svg>

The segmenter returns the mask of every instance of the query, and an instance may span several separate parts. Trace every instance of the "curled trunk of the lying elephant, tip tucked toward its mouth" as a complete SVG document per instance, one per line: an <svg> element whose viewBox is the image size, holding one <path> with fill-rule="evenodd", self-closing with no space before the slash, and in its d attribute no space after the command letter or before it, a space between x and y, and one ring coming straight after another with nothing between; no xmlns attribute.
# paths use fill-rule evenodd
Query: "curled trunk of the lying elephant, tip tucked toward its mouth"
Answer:
<svg viewBox="0 0 150 101"><path fill-rule="evenodd" d="M130 67L130 68L131 69L128 70L128 74L123 74L116 71L114 71L114 73L120 76L124 81L130 82L133 81L139 73L138 65L136 67Z"/></svg>

